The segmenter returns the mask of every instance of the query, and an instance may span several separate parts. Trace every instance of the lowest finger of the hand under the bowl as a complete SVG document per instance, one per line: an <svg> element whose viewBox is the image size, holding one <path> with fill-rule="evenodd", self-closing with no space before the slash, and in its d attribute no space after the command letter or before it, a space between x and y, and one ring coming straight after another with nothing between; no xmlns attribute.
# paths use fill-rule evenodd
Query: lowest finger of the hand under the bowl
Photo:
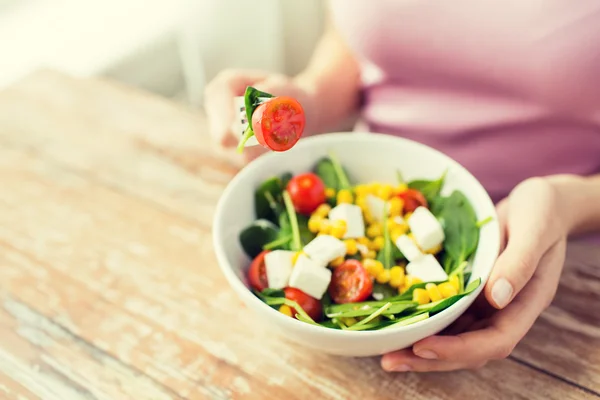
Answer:
<svg viewBox="0 0 600 400"><path fill-rule="evenodd" d="M381 368L388 372L434 372L474 368L462 362L427 360L417 357L410 349L395 351L381 358Z"/></svg>

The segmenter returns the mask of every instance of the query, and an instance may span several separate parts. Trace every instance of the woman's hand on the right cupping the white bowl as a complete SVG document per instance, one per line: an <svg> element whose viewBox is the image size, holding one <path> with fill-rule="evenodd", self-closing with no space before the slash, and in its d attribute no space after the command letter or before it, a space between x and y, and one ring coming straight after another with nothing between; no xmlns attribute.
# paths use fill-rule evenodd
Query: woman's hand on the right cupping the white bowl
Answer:
<svg viewBox="0 0 600 400"><path fill-rule="evenodd" d="M498 205L502 251L485 298L478 298L444 335L383 356L382 367L449 371L508 357L550 305L558 287L570 228L561 217L559 198L543 178L517 186Z"/></svg>

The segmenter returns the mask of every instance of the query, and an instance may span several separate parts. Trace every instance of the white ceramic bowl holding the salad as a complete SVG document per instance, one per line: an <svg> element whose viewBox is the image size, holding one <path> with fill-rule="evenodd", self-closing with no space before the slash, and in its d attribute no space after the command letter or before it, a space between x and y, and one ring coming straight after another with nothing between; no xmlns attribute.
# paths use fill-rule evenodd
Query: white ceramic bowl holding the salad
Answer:
<svg viewBox="0 0 600 400"><path fill-rule="evenodd" d="M471 280L481 278L479 288L429 319L379 331L342 331L313 326L279 313L254 296L244 275L250 260L239 244L238 235L255 219L255 188L265 179L286 171L294 174L310 171L329 151L338 156L354 183L396 183L397 170L407 180L435 179L448 169L442 193L459 189L470 200L478 219L493 217L493 221L481 230L473 261ZM213 237L217 259L225 277L247 306L261 317L262 323L278 327L287 338L302 346L342 356L373 356L402 349L446 328L483 289L500 246L494 204L465 168L444 154L413 141L354 132L305 138L288 152L270 153L247 165L229 183L219 201Z"/></svg>

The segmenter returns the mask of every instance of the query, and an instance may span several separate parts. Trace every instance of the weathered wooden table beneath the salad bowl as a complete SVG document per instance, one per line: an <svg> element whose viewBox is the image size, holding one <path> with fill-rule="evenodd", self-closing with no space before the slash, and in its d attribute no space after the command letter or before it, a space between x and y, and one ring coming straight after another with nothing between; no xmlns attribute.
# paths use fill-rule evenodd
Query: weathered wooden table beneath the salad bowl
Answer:
<svg viewBox="0 0 600 400"><path fill-rule="evenodd" d="M1 399L600 399L600 249L506 360L388 374L240 306L211 217L231 156L201 115L43 71L0 93Z"/></svg>

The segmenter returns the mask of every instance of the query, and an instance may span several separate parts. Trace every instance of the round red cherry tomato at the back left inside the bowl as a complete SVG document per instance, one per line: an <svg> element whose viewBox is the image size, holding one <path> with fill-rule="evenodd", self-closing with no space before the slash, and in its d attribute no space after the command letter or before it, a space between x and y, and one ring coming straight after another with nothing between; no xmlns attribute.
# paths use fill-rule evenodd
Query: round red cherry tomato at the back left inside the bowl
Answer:
<svg viewBox="0 0 600 400"><path fill-rule="evenodd" d="M290 179L287 191L296 211L304 215L310 215L326 200L325 184L312 172L296 175Z"/></svg>

